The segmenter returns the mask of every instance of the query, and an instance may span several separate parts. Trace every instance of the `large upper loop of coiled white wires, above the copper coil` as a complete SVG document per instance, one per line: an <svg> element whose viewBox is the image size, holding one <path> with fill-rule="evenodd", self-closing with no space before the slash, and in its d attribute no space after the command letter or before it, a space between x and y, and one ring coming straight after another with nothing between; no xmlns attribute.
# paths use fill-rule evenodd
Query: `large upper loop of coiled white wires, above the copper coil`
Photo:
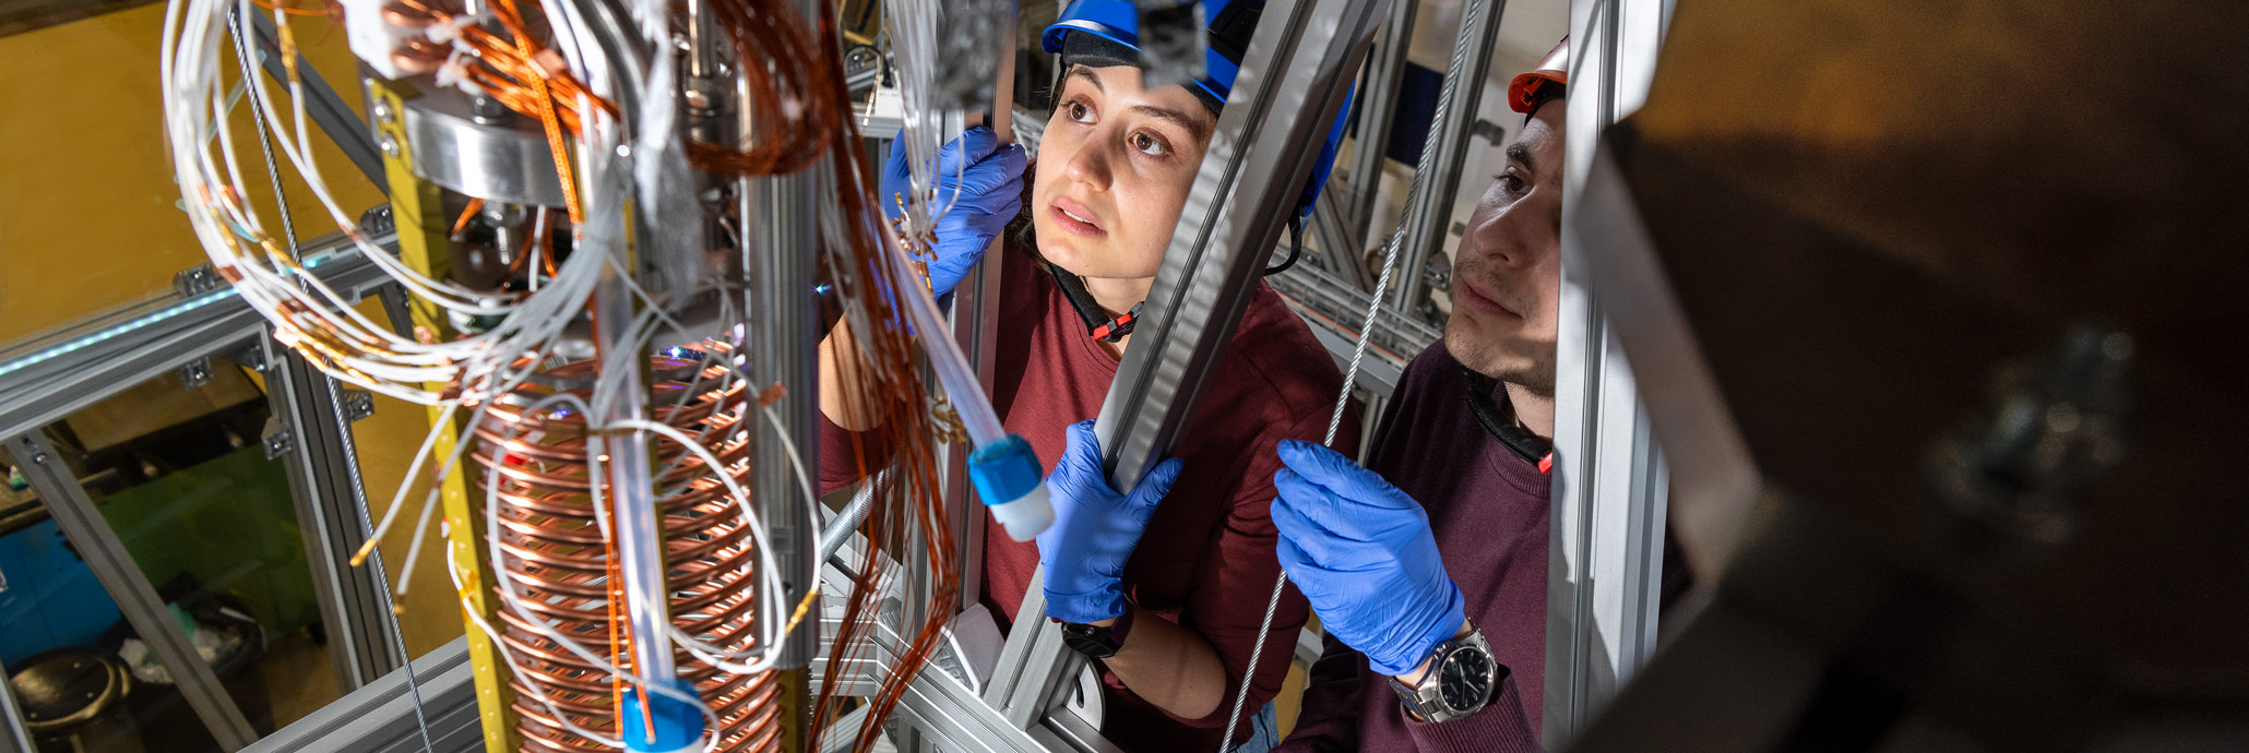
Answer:
<svg viewBox="0 0 2249 753"><path fill-rule="evenodd" d="M290 258L295 250L277 243L263 218L247 205L223 99L220 61L225 58L223 34L229 11L247 20L263 9L247 0L171 0L164 11L160 52L164 130L171 142L173 173L189 223L220 276L234 281L243 301L274 324L274 337L281 344L299 348L315 366L337 380L385 396L421 405L477 405L535 371L540 357L569 326L571 315L585 308L603 258L573 254L547 285L517 301L495 299L416 272L376 245L353 220L353 214L337 205L313 160L304 85L290 76L292 108L286 121L295 128L274 128L274 148L297 169L328 218L360 254L414 297L445 312L499 317L495 328L450 342L418 342L369 321L342 294L306 274ZM290 16L274 11L272 18L277 29L288 36ZM252 103L263 108L265 119L283 124L274 97L268 92L268 81L254 70L236 74L256 92Z"/></svg>

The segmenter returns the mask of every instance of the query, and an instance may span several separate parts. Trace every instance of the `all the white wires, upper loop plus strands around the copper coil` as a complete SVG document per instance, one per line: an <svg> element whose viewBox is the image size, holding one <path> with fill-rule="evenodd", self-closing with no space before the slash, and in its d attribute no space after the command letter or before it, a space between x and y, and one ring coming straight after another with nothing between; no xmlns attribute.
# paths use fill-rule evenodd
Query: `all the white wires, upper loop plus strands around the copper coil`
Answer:
<svg viewBox="0 0 2249 753"><path fill-rule="evenodd" d="M594 70L600 61L598 45L578 38L582 36L587 20L573 18L564 2L542 2L540 7L553 20L553 29L558 29L556 47L564 54L569 67L573 67L580 81L589 81L596 90L605 88L605 83L614 85L609 74ZM639 9L641 4L634 7ZM313 139L304 110L306 97L301 83L290 76L288 92L292 117L288 121L295 124L295 128L292 133L290 128L277 128L272 142L286 162L295 166L310 187L328 218L344 232L346 238L351 238L360 254L364 254L382 274L398 281L409 294L452 315L499 317L495 328L450 342L418 342L400 337L387 326L358 315L342 294L308 274L297 258L292 258L295 250L277 243L256 209L247 205L250 193L241 189L245 184L241 178L243 171L234 153L234 135L227 126L227 110L232 101L220 70L229 11L241 13L241 18L247 20L252 13L263 9L245 0L171 0L164 16L164 40L160 52L162 110L182 205L198 241L211 256L214 267L234 283L243 301L274 324L274 337L306 353L315 366L337 380L443 409L434 420L436 429L432 429L432 434L416 450L405 474L407 481L398 488L389 510L369 537L371 542L378 542L398 519L398 512L405 508L403 501L407 497L407 488L421 470L430 465L430 459L436 456L436 443L452 425L454 416L466 407L477 414L470 416L470 420L481 418L481 414L493 409L502 396L515 391L533 373L549 366L564 328L589 306L605 272L623 276L630 285L630 272L616 267L614 256L607 254L607 247L612 243L621 243L623 238L623 198L634 196L630 162L618 157L616 151L623 124L614 121L598 108L591 108L591 103L580 103L580 112L591 112L580 130L580 142L576 144L580 160L587 162L585 189L589 198L589 223L585 227L571 227L571 232L578 234L576 238L580 241L580 252L571 254L558 267L553 279L544 281L544 285L538 285L533 292L511 301L416 272L369 238L353 216L337 205L319 164L313 160ZM290 38L288 16L274 11L272 18L283 38ZM589 58L594 65L589 65ZM295 61L290 61L290 65L295 65ZM268 92L268 81L263 81L256 70L241 70L236 74L243 81L234 81L234 94L241 94L243 85L252 88L256 97L250 99L254 106L263 108L265 121L283 124L274 108L272 92ZM668 92L668 88L654 90ZM677 321L670 321L661 306L652 306L643 290L636 285L630 288L636 299L634 308L639 315L632 321L627 342L603 353L605 362L600 364L600 375L596 378L591 396L580 398L573 393L553 393L526 407L524 414L531 416L547 407L571 407L587 416L587 432L591 434L596 447L609 434L625 441L643 441L648 434L654 434L670 443L679 443L690 459L704 463L711 477L724 486L726 499L733 506L740 526L749 530L749 542L744 546L756 548L756 566L762 569L762 573L756 573L760 582L756 591L762 600L767 600L765 614L789 614L792 620L760 620L756 625L758 636L753 647L747 652L711 645L702 636L690 636L677 627L670 629L668 641L708 661L711 665L717 665L720 670L762 672L787 647L787 627L794 618L803 616L803 605L783 602L787 591L778 578L780 566L774 562L767 521L758 517L749 492L733 481L733 472L740 468L726 468L720 456L706 447L713 441L706 436L708 429L704 436L690 436L657 420L618 420L596 425L598 416L607 416L605 409L614 400L627 398L623 375L643 366L636 360L648 353L657 333L661 333L666 324L672 330L684 330ZM740 346L740 342L735 346ZM713 364L724 364L726 369L726 378L717 389L747 384L747 373L742 371L744 362L740 355L731 355L722 362L706 357L704 369ZM688 398L690 396L684 396L681 400ZM749 416L751 411L758 416ZM778 427L778 416L771 407L760 405L758 400L742 400L738 414L726 416L731 418L729 427L733 427L729 429L731 436L720 438L720 443L733 441L733 434L747 432L747 427L756 425L760 416ZM713 420L713 425L717 423ZM515 438L515 432L520 429L520 425L511 427L508 438ZM787 432L776 434L783 443L789 443ZM439 483L432 483L430 495L423 499L421 517L414 528L414 542L405 560L407 575L421 553L432 512L439 506L436 497L443 488L443 479L459 472L461 461L472 445L475 443L470 441L461 441L441 463L436 463ZM794 445L787 445L785 450L807 501L807 517L803 524L819 526L814 508L819 497L812 492L803 461ZM493 452L502 452L502 447L493 447ZM654 477L661 479L666 470L659 470ZM603 477L600 452L589 452L589 472L591 479ZM605 506L607 501L603 499L600 483L591 483L589 497L596 512L594 517L607 535L609 510ZM490 524L490 530L502 528L497 521L497 486L488 483L486 521ZM506 553L499 548L497 537L488 539L488 546L493 562L504 562ZM448 562L452 564L448 566L448 573L452 575L457 591L466 596L470 591L463 587L463 566L461 562L454 562L452 555L454 551L448 548ZM405 584L409 582L407 575L398 578L398 593L405 593ZM605 672L630 677L603 656L585 652L576 645L576 641L556 632L558 623L535 616L508 578L490 578L490 582L497 587L495 596L499 607L517 614L524 625L533 625L535 632L542 632L547 638L553 638L558 645L571 650L596 668L603 668ZM493 625L472 609L463 611L470 623L490 634L495 645L506 654L506 645L497 641ZM517 656L504 659L511 665L517 661ZM524 677L533 688L535 701L553 710L558 719L564 719L573 733L600 744L621 746L614 737L596 735L594 731L569 724L569 717L553 708L553 701L547 697L547 688L531 679L529 672L520 672L517 677ZM715 735L720 719L708 706L702 704L702 699L661 683L648 683L643 688L697 704L713 731L706 749L720 742L720 735Z"/></svg>

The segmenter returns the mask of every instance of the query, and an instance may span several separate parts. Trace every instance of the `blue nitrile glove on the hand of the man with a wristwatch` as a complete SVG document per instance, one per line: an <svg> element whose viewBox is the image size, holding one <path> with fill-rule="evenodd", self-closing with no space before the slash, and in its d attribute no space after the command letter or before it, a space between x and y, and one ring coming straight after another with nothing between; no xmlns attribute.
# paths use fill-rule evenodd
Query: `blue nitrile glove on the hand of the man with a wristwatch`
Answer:
<svg viewBox="0 0 2249 753"><path fill-rule="evenodd" d="M1280 566L1327 634L1399 677L1460 632L1460 587L1444 573L1421 503L1334 450L1282 441Z"/></svg>

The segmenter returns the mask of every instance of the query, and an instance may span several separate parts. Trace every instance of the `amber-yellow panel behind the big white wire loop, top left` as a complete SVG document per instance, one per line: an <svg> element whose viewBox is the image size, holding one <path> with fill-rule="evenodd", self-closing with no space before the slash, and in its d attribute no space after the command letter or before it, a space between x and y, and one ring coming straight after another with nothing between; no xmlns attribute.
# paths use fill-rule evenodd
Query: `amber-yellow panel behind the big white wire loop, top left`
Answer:
<svg viewBox="0 0 2249 753"><path fill-rule="evenodd" d="M94 13L99 11L99 13ZM306 58L360 108L342 25L290 20ZM173 272L209 261L175 209L157 88L164 2L43 0L0 7L0 342L171 290ZM232 43L232 40L229 40ZM232 67L229 67L232 76ZM36 106L34 106L36 103ZM250 202L270 223L272 189L250 110L232 110ZM313 135L313 155L337 202L373 207L382 193L342 151ZM313 193L283 166L304 238L335 232ZM274 225L277 227L277 225ZM85 250L97 250L90 258Z"/></svg>

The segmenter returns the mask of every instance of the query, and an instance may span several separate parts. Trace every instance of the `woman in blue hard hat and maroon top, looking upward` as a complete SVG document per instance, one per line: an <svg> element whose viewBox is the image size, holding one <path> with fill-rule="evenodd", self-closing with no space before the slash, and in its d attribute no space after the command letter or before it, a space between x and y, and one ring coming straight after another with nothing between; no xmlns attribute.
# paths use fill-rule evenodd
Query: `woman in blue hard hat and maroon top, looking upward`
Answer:
<svg viewBox="0 0 2249 753"><path fill-rule="evenodd" d="M1100 659L1109 688L1102 735L1131 751L1217 749L1280 575L1268 517L1273 450L1284 438L1318 443L1343 382L1304 321L1257 283L1172 461L1120 495L1102 474L1086 420L1131 346L1133 312L1217 128L1235 63L1221 49L1239 56L1259 9L1250 0L1205 4L1210 70L1226 70L1228 81L1145 90L1133 4L1073 2L1044 34L1064 74L1030 191L1021 151L999 148L990 130L963 135L938 157L938 193L954 209L936 227L931 285L949 292L1014 218L996 258L992 407L1041 459L1059 459L1048 477L1057 519L1037 544L1012 542L985 521L983 600L1003 623L1019 623L1023 591L1046 564L1046 616L1064 623L1075 650ZM893 148L884 191L904 184L904 171ZM857 481L839 461L850 452L846 432L879 420L855 411L870 400L846 396L834 378L850 371L855 353L841 328L821 344L821 409L832 423L825 490ZM1356 436L1340 445L1356 447ZM1280 692L1304 616L1291 589L1244 706L1250 715ZM1244 719L1235 744L1255 737L1248 749L1264 749L1262 735L1271 735L1268 708L1264 719Z"/></svg>

